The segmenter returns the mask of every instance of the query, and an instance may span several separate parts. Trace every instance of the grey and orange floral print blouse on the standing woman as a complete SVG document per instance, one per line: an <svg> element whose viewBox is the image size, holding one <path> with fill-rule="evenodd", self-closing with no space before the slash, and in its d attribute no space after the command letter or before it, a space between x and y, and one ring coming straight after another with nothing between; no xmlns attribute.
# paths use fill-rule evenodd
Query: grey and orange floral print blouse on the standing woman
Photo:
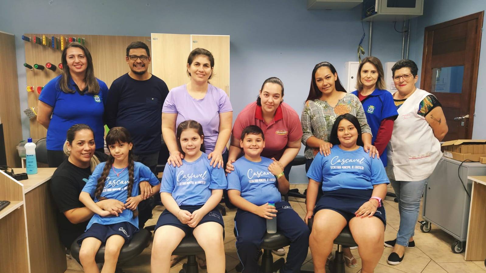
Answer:
<svg viewBox="0 0 486 273"><path fill-rule="evenodd" d="M366 121L363 105L359 98L347 93L338 100L336 106L331 107L327 101L314 99L306 101L300 122L302 123L302 143L306 145L311 136L329 142L330 133L334 121L339 115L350 113L358 118L362 133L371 134L371 128ZM311 148L306 145L304 156L306 159L313 159L319 152L319 148Z"/></svg>

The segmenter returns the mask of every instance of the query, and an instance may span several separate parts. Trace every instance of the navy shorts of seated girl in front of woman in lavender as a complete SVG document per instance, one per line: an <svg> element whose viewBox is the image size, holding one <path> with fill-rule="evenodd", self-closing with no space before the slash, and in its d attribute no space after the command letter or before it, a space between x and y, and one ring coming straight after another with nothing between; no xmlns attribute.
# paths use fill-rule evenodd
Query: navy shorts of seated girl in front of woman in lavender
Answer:
<svg viewBox="0 0 486 273"><path fill-rule="evenodd" d="M201 209L203 205L199 206L179 206L182 210L187 210L189 212L193 212L196 209ZM203 219L197 225L201 225L206 222L216 222L223 226L223 230L225 229L225 223L223 222L223 215L221 212L214 208L213 210L209 211L208 214L204 215ZM177 219L177 216L172 214L169 210L165 209L160 217L158 217L157 225L155 226L155 230L162 225L173 225L177 226L178 228L182 229L187 235L191 235L194 227L190 227L189 225L184 225Z"/></svg>

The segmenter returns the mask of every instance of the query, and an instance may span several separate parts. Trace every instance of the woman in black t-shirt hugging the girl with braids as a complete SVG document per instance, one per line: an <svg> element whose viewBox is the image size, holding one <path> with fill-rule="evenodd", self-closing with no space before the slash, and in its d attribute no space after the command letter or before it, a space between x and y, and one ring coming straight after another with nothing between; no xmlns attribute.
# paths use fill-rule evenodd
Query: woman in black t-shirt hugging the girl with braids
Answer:
<svg viewBox="0 0 486 273"><path fill-rule="evenodd" d="M95 143L93 130L86 124L76 124L69 128L64 153L68 156L55 170L51 179L51 193L59 210L57 225L61 242L66 248L80 236L93 216L93 212L79 201L92 170L100 161L94 156ZM97 205L113 215L125 209L116 199L103 200Z"/></svg>

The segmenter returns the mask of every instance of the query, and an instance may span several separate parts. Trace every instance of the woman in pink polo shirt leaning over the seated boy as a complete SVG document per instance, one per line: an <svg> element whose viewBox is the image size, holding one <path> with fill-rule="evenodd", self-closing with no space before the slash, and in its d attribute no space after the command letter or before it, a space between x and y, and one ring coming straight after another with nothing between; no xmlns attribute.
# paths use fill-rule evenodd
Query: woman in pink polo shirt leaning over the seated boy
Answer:
<svg viewBox="0 0 486 273"><path fill-rule="evenodd" d="M280 162L285 177L289 179L289 163L300 150L302 126L297 112L283 102L283 83L280 79L266 79L261 85L257 101L248 104L236 117L226 164L228 173L234 170L231 163L242 155L240 137L243 129L250 125L260 127L265 134L265 147L261 156L275 158Z"/></svg>

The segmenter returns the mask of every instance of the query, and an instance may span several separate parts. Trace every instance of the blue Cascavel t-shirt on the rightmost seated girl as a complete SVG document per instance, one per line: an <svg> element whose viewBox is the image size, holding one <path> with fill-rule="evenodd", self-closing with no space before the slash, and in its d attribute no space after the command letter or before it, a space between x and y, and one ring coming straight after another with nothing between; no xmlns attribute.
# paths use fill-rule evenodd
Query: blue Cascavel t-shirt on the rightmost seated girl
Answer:
<svg viewBox="0 0 486 273"><path fill-rule="evenodd" d="M334 145L327 157L317 153L307 177L322 182L322 191L338 189L370 190L373 185L390 183L382 161L371 158L363 147L345 151Z"/></svg>

